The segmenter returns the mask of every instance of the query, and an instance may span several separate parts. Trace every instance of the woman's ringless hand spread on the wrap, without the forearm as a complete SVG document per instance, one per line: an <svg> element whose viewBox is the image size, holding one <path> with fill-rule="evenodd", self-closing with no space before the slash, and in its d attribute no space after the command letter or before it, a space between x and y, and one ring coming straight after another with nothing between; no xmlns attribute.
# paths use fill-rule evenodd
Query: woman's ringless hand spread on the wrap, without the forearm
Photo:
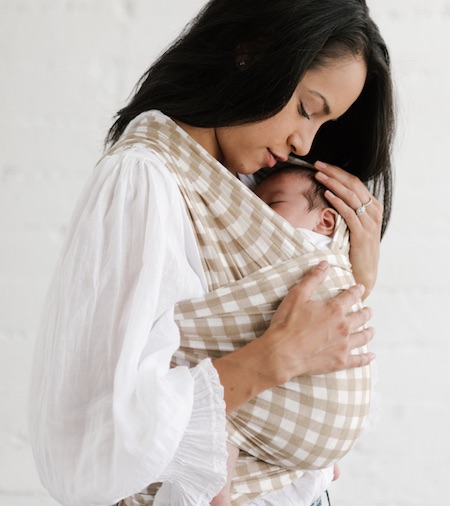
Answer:
<svg viewBox="0 0 450 506"><path fill-rule="evenodd" d="M361 367L374 358L372 353L351 353L374 335L373 328L358 330L370 320L370 308L349 312L364 293L362 285L326 301L311 300L327 271L326 262L311 269L289 291L260 338L273 348L274 366L284 381L294 376Z"/></svg>

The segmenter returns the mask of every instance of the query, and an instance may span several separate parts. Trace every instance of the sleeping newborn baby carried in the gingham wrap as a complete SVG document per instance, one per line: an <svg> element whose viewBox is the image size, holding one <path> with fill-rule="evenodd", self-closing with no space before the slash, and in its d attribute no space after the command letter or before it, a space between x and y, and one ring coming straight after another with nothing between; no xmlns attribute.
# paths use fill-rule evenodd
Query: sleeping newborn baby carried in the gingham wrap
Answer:
<svg viewBox="0 0 450 506"><path fill-rule="evenodd" d="M314 169L286 165L275 169L254 189L255 194L319 249L330 246L338 213L325 199L326 188L314 177ZM231 506L231 479L239 448L228 443L227 483L211 506ZM336 478L338 469L334 469Z"/></svg>

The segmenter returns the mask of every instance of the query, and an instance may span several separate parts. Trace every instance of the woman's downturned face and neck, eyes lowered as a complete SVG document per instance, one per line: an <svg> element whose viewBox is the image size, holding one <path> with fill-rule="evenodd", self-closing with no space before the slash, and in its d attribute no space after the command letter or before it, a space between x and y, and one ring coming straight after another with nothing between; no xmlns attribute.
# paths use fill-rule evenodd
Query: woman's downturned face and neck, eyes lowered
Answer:
<svg viewBox="0 0 450 506"><path fill-rule="evenodd" d="M232 172L252 174L288 155L306 155L319 128L347 111L366 79L362 58L349 56L308 71L286 106L257 123L220 127L208 151Z"/></svg>

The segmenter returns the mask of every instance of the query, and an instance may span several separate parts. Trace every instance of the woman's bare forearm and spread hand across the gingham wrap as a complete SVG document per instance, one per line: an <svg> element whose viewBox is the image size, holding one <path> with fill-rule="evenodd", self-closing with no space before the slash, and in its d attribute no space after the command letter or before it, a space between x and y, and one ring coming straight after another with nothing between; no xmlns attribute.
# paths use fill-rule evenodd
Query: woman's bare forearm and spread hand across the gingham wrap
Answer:
<svg viewBox="0 0 450 506"><path fill-rule="evenodd" d="M369 308L349 312L363 286L326 301L311 300L327 271L326 262L311 269L291 288L261 337L214 361L227 412L295 376L362 367L373 360L372 353L352 354L374 335L370 327L358 330L370 320Z"/></svg>

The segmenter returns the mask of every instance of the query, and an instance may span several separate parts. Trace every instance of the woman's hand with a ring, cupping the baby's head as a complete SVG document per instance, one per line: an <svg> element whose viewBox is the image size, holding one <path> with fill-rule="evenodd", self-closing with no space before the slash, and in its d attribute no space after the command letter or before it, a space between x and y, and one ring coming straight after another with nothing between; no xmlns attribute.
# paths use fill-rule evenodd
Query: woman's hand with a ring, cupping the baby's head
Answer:
<svg viewBox="0 0 450 506"><path fill-rule="evenodd" d="M378 273L383 204L361 180L345 170L316 162L316 178L328 188L325 197L344 218L350 231L350 262L357 283L372 291Z"/></svg>

